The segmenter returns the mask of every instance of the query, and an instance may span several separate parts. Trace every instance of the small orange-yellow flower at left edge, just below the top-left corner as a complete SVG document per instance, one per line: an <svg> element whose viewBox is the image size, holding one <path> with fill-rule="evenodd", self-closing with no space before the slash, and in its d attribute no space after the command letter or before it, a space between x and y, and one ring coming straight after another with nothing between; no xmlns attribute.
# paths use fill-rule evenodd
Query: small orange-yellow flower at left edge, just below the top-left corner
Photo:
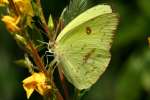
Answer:
<svg viewBox="0 0 150 100"><path fill-rule="evenodd" d="M18 32L20 30L17 26L20 21L20 17L3 16L2 21L5 23L10 32Z"/></svg>

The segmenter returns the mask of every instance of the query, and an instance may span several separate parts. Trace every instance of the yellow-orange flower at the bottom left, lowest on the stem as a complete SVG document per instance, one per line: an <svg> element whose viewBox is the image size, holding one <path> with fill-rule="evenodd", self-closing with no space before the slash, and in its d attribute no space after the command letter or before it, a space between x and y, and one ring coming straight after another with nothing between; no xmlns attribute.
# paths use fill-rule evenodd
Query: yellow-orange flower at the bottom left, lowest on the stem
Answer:
<svg viewBox="0 0 150 100"><path fill-rule="evenodd" d="M51 86L46 83L46 76L44 73L33 73L31 76L23 80L23 88L26 91L27 98L29 99L34 90L39 94L44 95Z"/></svg>

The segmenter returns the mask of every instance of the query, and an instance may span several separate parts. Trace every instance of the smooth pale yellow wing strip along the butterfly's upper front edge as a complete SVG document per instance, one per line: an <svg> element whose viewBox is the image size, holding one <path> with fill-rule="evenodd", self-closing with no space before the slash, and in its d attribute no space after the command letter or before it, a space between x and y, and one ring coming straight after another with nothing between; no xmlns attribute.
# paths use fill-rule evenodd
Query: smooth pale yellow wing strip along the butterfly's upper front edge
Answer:
<svg viewBox="0 0 150 100"><path fill-rule="evenodd" d="M98 11L98 12L97 12ZM59 41L68 31L74 29L75 27L81 25L82 23L100 16L105 13L111 13L111 7L109 5L97 5L95 7L92 7L91 9L88 9L87 11L83 12L79 16L77 16L74 20L72 20L66 28L62 30L62 32L58 35L57 40Z"/></svg>

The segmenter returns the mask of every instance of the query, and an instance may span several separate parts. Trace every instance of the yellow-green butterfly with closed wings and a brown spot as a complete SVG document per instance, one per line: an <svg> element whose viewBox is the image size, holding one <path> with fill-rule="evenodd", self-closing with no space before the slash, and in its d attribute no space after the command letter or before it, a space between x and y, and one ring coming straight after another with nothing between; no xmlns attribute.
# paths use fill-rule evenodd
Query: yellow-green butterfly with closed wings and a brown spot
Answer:
<svg viewBox="0 0 150 100"><path fill-rule="evenodd" d="M52 51L67 80L77 89L90 88L106 70L118 16L109 5L96 5L60 32Z"/></svg>

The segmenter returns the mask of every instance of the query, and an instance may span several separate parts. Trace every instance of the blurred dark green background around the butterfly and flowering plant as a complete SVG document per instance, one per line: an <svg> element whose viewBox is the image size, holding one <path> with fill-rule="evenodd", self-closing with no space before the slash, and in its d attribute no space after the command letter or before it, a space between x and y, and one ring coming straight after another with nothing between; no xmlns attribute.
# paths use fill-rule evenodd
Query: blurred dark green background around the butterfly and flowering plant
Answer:
<svg viewBox="0 0 150 100"><path fill-rule="evenodd" d="M68 0L41 0L45 17L58 18ZM120 24L111 49L112 60L83 100L150 100L150 0L91 0L112 5ZM22 80L28 70L16 65L21 50L0 22L0 100L26 100ZM33 93L30 100L42 100Z"/></svg>

